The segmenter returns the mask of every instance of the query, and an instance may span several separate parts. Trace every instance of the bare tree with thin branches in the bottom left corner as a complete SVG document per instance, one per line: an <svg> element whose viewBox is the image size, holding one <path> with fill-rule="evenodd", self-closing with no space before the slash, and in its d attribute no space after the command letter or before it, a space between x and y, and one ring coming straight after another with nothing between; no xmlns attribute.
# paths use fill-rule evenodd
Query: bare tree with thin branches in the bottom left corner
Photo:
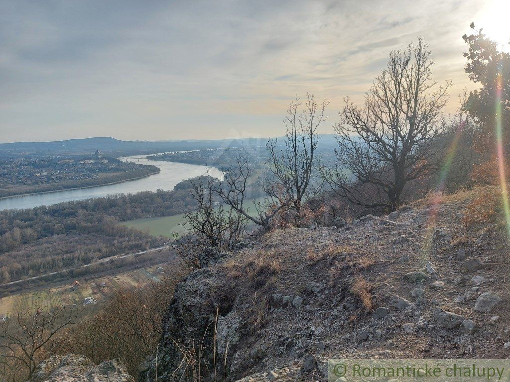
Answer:
<svg viewBox="0 0 510 382"><path fill-rule="evenodd" d="M33 307L0 324L0 368L16 377L30 379L38 364L54 354L65 343L62 331L75 323L70 308L49 313Z"/></svg>

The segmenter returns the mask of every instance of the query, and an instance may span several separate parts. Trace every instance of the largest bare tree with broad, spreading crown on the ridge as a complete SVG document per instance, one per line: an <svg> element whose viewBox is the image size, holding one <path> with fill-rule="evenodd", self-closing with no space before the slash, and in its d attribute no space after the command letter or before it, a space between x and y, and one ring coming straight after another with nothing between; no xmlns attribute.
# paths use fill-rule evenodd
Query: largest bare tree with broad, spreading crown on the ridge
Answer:
<svg viewBox="0 0 510 382"><path fill-rule="evenodd" d="M430 51L418 39L390 52L363 107L349 98L341 112L337 165L324 169L336 192L349 202L394 211L408 182L440 171L449 124L443 118L451 81L431 80Z"/></svg>

